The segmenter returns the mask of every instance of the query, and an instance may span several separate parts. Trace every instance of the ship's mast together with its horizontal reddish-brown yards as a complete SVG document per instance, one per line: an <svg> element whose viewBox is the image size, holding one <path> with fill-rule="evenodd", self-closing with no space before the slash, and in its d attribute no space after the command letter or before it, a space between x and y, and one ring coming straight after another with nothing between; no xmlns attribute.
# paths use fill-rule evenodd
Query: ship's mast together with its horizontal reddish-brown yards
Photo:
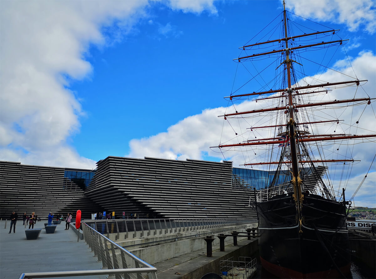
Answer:
<svg viewBox="0 0 376 279"><path fill-rule="evenodd" d="M230 112L226 113L224 115L219 115L218 117L223 117L224 120L227 120L227 118L249 118L252 117L251 115L265 115L268 114L268 112L282 112L284 111L285 116L282 116L284 120L282 122L278 123L269 123L269 125L264 126L253 126L248 129L251 131L253 129L262 129L262 128L268 128L268 127L285 127L284 132L280 133L278 132L278 135L275 135L274 137L269 137L269 138L258 138L257 140L247 140L243 141L243 143L233 143L233 144L220 144L219 146L213 146L215 148L220 148L220 149L227 149L227 150L235 150L237 147L250 147L252 149L253 146L273 146L273 145L278 145L280 147L281 143L281 135L286 135L286 138L284 138L286 143L289 143L285 145L286 149L282 150L280 153L280 159L279 161L270 160L268 162L258 162L258 163L250 163L250 164L244 164L244 165L274 165L278 164L279 167L277 167L277 172L279 172L279 169L282 165L287 165L291 170L291 185L293 188L293 197L294 197L294 202L296 205L296 221L299 225L301 225L302 222L302 204L303 204L303 193L302 193L302 187L303 187L303 181L300 178L300 171L304 172L305 169L303 168L303 164L310 164L311 168L316 171L316 167L314 166L315 163L338 163L338 162L354 162L352 158L336 158L336 159L325 159L325 158L320 158L318 160L315 160L313 158L310 158L308 155L304 155L307 158L303 158L302 154L300 153L300 149L303 148L305 149L305 143L309 142L317 142L317 141L331 141L335 142L338 140L350 140L350 139L364 139L364 138L376 138L376 134L370 134L370 135L351 135L351 134L310 134L309 132L306 132L304 130L305 124L320 124L320 123L331 123L331 122L337 122L337 124L340 121L340 119L327 119L327 120L322 120L322 121L303 121L305 120L304 117L302 119L297 118L297 112L299 111L298 109L303 109L303 108L311 108L311 107L321 107L322 108L328 108L327 106L334 105L334 107L337 107L340 104L346 104L346 106L355 106L355 105L370 105L371 101L374 101L376 98L370 98L369 96L363 97L363 98L357 98L355 99L355 96L353 99L347 99L347 100L321 100L320 102L306 102L306 101L301 101L300 102L300 96L302 95L311 95L311 94L317 94L320 92L326 92L328 93L332 89L339 89L339 88L344 88L348 86L359 86L363 82L367 82L367 80L359 80L359 79L354 79L354 80L347 80L347 81L341 81L341 82L326 82L326 83L320 83L320 84L301 84L299 85L296 83L294 80L294 68L293 68L293 62L296 62L294 60L290 59L290 56L292 57L293 52L295 50L299 51L308 51L309 49L316 48L319 46L323 47L329 47L330 45L342 45L343 42L348 41L347 39L339 39L335 41L322 41L322 42L315 42L314 43L308 43L309 40L306 40L307 42L303 42L303 45L295 46L291 44L291 41L294 41L297 38L302 38L306 37L309 38L310 36L317 36L318 34L323 34L323 35L330 35L332 33L333 35L335 34L336 31L335 29L331 30L326 30L326 31L317 31L314 33L304 33L296 36L288 36L288 18L287 18L287 11L286 11L286 4L285 1L283 1L283 25L284 29L284 35L282 35L282 38L279 39L273 39L270 41L264 41L264 42L257 42L256 44L251 44L251 45L244 45L243 47L240 47L240 49L247 50L247 51L252 51L253 49L265 49L265 51L261 52L256 52L256 53L247 53L246 56L238 57L233 59L234 61L237 62L243 62L243 61L254 61L258 60L260 57L263 56L279 56L278 59L282 57L282 59L285 59L280 65L283 64L283 70L285 71L285 76L287 76L287 79L285 78L285 82L282 83L285 84L285 88L270 88L270 90L267 91L251 91L251 92L239 92L238 94L231 94L230 96L224 97L228 98L229 101L233 100L255 100L256 102L258 100L278 100L279 98L286 98L283 99L281 102L278 103L278 105L273 105L267 106L265 108L256 108L250 111L236 111L235 112ZM293 35L293 34L290 34ZM283 37L284 36L284 37ZM299 40L298 40L299 41ZM263 47L259 47L262 45ZM277 48L272 50L272 47L277 45ZM253 48L255 47L255 48ZM297 63L297 62L296 62ZM299 64L299 63L298 63ZM279 66L277 67L277 69ZM276 70L277 70L276 69ZM282 70L282 67L281 67ZM258 73L260 74L260 73ZM282 75L281 75L282 76ZM294 87L293 87L294 86ZM329 86L328 89L326 89ZM287 88L286 88L287 87ZM312 90L313 89L313 90ZM265 89L264 89L265 90ZM235 91L236 92L236 91ZM279 94L276 94L279 93ZM254 99L256 96L262 96L259 99ZM297 101L298 100L298 101ZM280 115L283 115L283 113L280 113ZM294 116L295 115L295 116ZM302 121L299 123L299 121ZM357 122L358 123L358 122ZM303 126L303 130L300 131L299 127ZM334 131L335 132L335 131ZM236 135L238 135L236 133ZM255 137L256 138L256 137ZM212 147L211 147L212 148ZM285 154L285 150L289 149L290 151L290 156L289 158L284 160L282 159L282 156ZM338 149L337 149L338 150ZM255 154L256 155L256 154ZM320 156L321 157L321 156ZM299 168L300 166L300 168ZM316 171L317 172L317 171ZM276 173L276 175L278 175ZM304 177L304 173L302 173L302 177ZM274 183L274 182L272 182ZM321 181L322 187L326 188L326 185L324 185L324 182ZM274 185L274 184L273 184ZM331 198L331 197L329 197Z"/></svg>

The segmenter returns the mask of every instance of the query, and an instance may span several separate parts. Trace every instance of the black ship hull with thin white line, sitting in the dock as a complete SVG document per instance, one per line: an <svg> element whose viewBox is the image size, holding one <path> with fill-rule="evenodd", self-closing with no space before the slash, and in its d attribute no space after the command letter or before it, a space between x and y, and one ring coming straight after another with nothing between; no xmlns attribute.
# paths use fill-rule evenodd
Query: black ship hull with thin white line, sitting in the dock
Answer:
<svg viewBox="0 0 376 279"><path fill-rule="evenodd" d="M305 195L301 225L291 193L258 203L257 211L260 257L267 271L280 278L349 276L343 203Z"/></svg>

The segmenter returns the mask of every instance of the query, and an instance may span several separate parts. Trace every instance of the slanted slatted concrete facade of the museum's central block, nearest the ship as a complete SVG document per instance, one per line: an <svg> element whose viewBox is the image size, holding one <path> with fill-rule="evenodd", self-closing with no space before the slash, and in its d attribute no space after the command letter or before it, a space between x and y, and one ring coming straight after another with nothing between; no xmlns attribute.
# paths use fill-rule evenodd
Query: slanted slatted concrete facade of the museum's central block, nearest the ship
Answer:
<svg viewBox="0 0 376 279"><path fill-rule="evenodd" d="M236 186L236 187L235 187ZM253 192L232 185L232 162L109 156L85 194L105 209L140 218L256 217Z"/></svg>

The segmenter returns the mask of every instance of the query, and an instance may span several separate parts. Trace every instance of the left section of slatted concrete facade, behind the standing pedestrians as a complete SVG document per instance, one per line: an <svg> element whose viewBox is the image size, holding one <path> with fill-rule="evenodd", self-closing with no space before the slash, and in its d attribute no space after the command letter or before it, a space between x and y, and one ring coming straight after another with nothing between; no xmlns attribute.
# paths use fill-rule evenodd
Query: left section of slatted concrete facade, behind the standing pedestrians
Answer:
<svg viewBox="0 0 376 279"><path fill-rule="evenodd" d="M0 161L0 215L9 218L14 210L18 216L35 212L46 219L49 212L63 214L82 211L83 218L102 210L85 197L84 191L64 177L64 168L21 165ZM90 170L88 170L90 171Z"/></svg>

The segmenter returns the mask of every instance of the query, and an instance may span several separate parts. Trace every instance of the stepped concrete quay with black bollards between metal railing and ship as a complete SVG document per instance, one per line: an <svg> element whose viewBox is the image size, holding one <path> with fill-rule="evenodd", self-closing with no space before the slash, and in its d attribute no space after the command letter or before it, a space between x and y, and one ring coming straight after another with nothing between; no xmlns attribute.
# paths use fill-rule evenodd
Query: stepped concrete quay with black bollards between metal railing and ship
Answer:
<svg viewBox="0 0 376 279"><path fill-rule="evenodd" d="M237 236L237 246L233 245L233 237L224 239L225 251L220 251L220 234L230 235L231 232L246 233L249 227L256 223L218 227L199 230L161 230L153 233L110 233L108 237L127 249L133 255L148 262L158 269L158 279L164 278L201 278L205 274L220 273L220 261L233 257L238 261L241 257L258 259L258 238L247 240L246 234ZM213 238L212 257L206 256L205 237ZM251 234L252 235L252 234ZM121 261L120 252L115 251L118 261ZM177 274L176 274L177 273Z"/></svg>

